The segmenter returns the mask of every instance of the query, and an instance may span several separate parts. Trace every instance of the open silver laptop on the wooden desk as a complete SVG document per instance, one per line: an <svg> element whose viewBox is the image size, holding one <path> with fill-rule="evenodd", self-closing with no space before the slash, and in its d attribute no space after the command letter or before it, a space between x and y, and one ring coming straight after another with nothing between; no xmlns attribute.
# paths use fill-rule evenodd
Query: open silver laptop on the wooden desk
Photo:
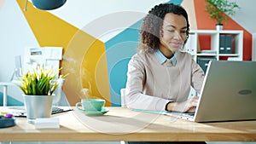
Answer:
<svg viewBox="0 0 256 144"><path fill-rule="evenodd" d="M256 61L210 61L194 116L167 114L195 122L256 119Z"/></svg>

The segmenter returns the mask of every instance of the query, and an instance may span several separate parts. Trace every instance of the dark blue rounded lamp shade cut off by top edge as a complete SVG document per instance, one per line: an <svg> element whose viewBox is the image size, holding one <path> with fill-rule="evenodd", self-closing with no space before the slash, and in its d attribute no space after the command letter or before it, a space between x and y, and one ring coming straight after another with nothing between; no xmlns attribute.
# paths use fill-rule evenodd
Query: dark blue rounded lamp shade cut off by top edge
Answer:
<svg viewBox="0 0 256 144"><path fill-rule="evenodd" d="M26 6L27 6L26 0ZM32 0L32 4L37 9L41 10L52 10L52 9L58 9L60 8L64 3L66 3L67 0ZM26 11L25 6L25 11Z"/></svg>

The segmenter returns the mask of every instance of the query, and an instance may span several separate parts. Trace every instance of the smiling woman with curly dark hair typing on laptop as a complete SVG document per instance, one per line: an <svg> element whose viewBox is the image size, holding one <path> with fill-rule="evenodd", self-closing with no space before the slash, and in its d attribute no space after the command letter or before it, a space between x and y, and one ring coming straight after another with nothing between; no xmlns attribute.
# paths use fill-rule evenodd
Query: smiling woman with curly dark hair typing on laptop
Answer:
<svg viewBox="0 0 256 144"><path fill-rule="evenodd" d="M204 72L189 53L180 50L189 38L185 9L173 3L154 6L140 34L140 51L128 64L127 107L195 112L198 96L188 99L190 86L200 92Z"/></svg>

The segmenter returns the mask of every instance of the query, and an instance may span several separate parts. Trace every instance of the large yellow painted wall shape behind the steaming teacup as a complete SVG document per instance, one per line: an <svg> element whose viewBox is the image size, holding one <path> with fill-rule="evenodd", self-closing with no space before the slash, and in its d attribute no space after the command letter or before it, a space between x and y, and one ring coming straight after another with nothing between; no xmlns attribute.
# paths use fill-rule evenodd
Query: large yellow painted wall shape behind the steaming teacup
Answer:
<svg viewBox="0 0 256 144"><path fill-rule="evenodd" d="M90 98L104 98L107 100L106 105L110 106L104 43L70 25L67 21L47 11L34 8L32 3L28 3L26 11L23 10L25 8L23 0L17 0L17 3L41 47L63 47L62 74L69 73L63 90L70 105L74 106L84 98L83 89L89 88L90 84L92 92ZM101 67L100 71L96 72L96 66ZM96 84L97 77L101 80L100 85L98 82Z"/></svg>

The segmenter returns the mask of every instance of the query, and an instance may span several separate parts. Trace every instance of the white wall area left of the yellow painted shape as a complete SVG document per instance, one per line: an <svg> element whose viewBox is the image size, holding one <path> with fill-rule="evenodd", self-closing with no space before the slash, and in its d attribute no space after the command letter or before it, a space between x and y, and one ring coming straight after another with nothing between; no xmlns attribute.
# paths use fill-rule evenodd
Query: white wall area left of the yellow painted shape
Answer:
<svg viewBox="0 0 256 144"><path fill-rule="evenodd" d="M15 0L4 1L0 20L0 81L8 82L15 70L15 55L21 55L23 60L23 49L38 46L38 42ZM9 87L8 95L22 101L20 89L15 86Z"/></svg>

